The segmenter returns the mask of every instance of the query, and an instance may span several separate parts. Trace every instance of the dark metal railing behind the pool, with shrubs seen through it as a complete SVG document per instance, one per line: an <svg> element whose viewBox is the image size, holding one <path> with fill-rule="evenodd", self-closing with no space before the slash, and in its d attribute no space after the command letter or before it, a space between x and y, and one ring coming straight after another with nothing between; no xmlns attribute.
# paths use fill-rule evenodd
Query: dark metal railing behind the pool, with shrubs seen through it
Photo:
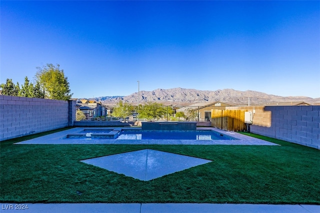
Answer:
<svg viewBox="0 0 320 213"><path fill-rule="evenodd" d="M77 105L76 121L209 121L211 110L199 106Z"/></svg>

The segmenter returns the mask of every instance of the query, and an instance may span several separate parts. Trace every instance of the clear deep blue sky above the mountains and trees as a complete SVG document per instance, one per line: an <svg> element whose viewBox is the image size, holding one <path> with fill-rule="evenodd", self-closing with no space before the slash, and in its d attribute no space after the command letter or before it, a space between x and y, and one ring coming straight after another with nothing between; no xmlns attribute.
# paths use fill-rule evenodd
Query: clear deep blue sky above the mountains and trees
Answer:
<svg viewBox="0 0 320 213"><path fill-rule="evenodd" d="M175 87L320 97L320 1L0 1L0 82L73 97Z"/></svg>

